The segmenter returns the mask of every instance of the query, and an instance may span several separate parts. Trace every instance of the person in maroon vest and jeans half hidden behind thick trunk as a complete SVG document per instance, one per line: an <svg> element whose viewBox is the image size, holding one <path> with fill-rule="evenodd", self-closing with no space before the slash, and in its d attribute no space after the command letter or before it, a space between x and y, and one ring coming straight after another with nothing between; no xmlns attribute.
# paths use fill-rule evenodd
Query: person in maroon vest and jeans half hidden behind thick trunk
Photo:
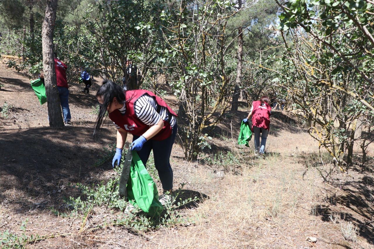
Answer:
<svg viewBox="0 0 374 249"><path fill-rule="evenodd" d="M66 70L67 65L62 63L59 59L57 59L57 53L53 53L55 55L55 71L56 71L56 80L57 80L57 90L58 95L60 97L61 108L62 108L62 115L64 116L64 123L65 126L70 126L70 108L69 108L69 89L68 89L68 81L66 79ZM39 75L40 79L44 80L43 71Z"/></svg>

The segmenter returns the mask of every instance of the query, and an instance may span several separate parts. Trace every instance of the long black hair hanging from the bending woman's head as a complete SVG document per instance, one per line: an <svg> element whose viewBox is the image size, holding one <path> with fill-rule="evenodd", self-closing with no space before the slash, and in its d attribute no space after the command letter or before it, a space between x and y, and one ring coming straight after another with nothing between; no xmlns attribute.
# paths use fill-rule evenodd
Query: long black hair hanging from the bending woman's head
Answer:
<svg viewBox="0 0 374 249"><path fill-rule="evenodd" d="M103 103L100 105L99 108L99 115L96 118L95 126L93 127L93 139L96 140L102 122L105 120L105 116L107 113L107 107L113 101L113 98L116 97L117 101L120 103L125 103L125 92L123 88L111 80L103 80L102 85L96 93L96 98L101 97L103 99Z"/></svg>

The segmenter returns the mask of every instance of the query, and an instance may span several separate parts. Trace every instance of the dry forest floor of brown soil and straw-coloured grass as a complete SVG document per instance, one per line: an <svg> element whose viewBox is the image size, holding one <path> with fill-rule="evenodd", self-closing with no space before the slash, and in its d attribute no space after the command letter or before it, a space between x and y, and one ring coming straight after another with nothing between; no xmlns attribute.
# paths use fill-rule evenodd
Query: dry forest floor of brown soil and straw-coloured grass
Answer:
<svg viewBox="0 0 374 249"><path fill-rule="evenodd" d="M54 210L79 196L76 183L99 184L116 174L115 127L109 122L99 141L92 139L98 83L88 96L81 85L70 87L73 126L52 129L28 77L0 61L0 107L9 104L0 110L0 247L3 240L26 248L374 248L373 171L333 169L325 181L329 157L322 153L321 163L318 143L285 111L273 111L268 153L254 157L253 143L237 145L243 103L210 134L212 149L197 162L184 160L174 144L174 186L184 183L184 196L199 198L178 209L188 222L140 231L104 222L118 215L106 206L60 215ZM166 99L176 110L175 98Z"/></svg>

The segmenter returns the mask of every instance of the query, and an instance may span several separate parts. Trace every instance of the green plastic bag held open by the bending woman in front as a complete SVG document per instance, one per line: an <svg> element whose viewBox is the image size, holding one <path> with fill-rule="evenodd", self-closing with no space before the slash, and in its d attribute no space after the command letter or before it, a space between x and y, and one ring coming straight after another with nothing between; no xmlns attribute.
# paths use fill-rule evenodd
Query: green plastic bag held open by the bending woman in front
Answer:
<svg viewBox="0 0 374 249"><path fill-rule="evenodd" d="M147 169L145 169L136 151L132 151L130 177L127 182L127 196L132 205L137 205L150 216L160 215L163 210L159 202L159 193L156 184L147 172Z"/></svg>

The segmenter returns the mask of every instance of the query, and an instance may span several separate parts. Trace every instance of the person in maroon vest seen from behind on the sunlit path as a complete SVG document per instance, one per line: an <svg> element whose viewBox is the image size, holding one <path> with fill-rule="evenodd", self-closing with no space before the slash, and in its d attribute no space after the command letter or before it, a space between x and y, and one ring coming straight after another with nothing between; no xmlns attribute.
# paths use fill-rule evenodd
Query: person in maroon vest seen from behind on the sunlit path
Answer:
<svg viewBox="0 0 374 249"><path fill-rule="evenodd" d="M248 120L252 117L251 129L255 135L255 153L260 153L260 156L263 156L265 152L267 133L270 129L271 112L272 107L270 107L269 105L269 97L262 96L259 101L252 102L252 107L249 111L248 117L246 119L243 119L244 122L248 122Z"/></svg>

